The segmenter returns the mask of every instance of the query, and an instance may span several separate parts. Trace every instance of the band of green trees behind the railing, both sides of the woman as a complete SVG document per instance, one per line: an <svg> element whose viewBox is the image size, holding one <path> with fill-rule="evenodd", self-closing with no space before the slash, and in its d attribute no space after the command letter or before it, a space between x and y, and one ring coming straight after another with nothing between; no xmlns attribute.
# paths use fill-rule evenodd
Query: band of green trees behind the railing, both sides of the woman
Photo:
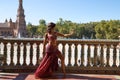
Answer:
<svg viewBox="0 0 120 80"><path fill-rule="evenodd" d="M28 23L28 34L33 37L37 35L43 37L46 32L46 21L39 20L39 25ZM71 30L75 33L70 38L81 39L83 36L88 39L118 39L120 35L120 20L102 20L100 22L75 23L70 20L59 18L56 22L56 31L68 34Z"/></svg>

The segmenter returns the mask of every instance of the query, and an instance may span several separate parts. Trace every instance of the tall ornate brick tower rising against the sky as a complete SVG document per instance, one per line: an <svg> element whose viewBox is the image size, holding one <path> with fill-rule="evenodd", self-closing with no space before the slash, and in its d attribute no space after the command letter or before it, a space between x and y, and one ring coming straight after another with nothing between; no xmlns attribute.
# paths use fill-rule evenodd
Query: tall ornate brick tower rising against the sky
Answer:
<svg viewBox="0 0 120 80"><path fill-rule="evenodd" d="M26 37L26 21L23 9L23 1L19 0L19 7L17 10L17 20L16 20L16 27L17 27L17 37Z"/></svg>

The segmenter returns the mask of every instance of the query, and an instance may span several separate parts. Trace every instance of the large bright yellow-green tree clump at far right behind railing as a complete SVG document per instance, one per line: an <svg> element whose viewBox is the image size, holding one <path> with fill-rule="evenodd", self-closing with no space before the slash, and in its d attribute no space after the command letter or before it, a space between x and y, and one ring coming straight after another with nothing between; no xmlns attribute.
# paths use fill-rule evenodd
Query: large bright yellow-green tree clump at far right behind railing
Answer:
<svg viewBox="0 0 120 80"><path fill-rule="evenodd" d="M98 39L118 39L119 29L119 20L101 21L95 26L96 37Z"/></svg>

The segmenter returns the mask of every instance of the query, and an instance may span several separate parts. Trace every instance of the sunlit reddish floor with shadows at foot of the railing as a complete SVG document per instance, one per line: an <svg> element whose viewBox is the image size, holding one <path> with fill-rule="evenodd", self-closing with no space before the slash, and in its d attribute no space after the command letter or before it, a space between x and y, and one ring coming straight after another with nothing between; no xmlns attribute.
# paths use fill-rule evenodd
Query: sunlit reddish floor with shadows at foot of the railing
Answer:
<svg viewBox="0 0 120 80"><path fill-rule="evenodd" d="M57 80L120 80L119 75L100 75L100 74L67 74L63 78L62 73L56 73L54 77L47 79ZM0 80L47 80L35 79L34 73L0 73Z"/></svg>

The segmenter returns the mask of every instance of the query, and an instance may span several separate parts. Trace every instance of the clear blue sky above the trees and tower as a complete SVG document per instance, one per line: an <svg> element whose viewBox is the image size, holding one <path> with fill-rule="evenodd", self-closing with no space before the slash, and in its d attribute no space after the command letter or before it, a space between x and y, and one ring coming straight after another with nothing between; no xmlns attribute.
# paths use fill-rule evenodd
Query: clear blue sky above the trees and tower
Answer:
<svg viewBox="0 0 120 80"><path fill-rule="evenodd" d="M16 21L19 0L1 0L0 22ZM77 23L120 20L120 0L23 0L26 22L57 22L59 18Z"/></svg>

